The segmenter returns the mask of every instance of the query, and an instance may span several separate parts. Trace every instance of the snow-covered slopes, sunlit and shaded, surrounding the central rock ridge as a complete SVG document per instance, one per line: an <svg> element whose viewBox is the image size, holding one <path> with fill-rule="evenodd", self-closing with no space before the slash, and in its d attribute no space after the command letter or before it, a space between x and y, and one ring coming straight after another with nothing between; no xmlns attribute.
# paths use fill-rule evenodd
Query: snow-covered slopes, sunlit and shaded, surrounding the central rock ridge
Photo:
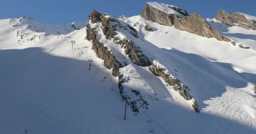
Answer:
<svg viewBox="0 0 256 134"><path fill-rule="evenodd" d="M126 94L136 99L131 89L139 90L149 103L137 116L128 106L124 121L125 102L121 101L118 77L112 76L91 49L92 43L85 40L85 23L75 23L81 28L75 30L72 24L50 26L28 18L21 23L19 19L0 20L0 133L23 133L25 129L28 134L148 134L151 129L156 134L256 131L253 49L162 26L140 16L118 18L122 25L136 28L139 38L132 36L132 41L154 64L189 87L201 110L195 113L191 102L172 86L153 75L149 67L134 64L124 48L107 40L100 23L91 24L99 33L99 41L120 62L128 64L120 68L120 73L130 78L123 84ZM140 25L155 30L145 31ZM256 35L254 31L235 30ZM122 28L117 28L115 36L131 38ZM243 36L236 39L244 41ZM255 40L251 40L247 42L253 46ZM75 41L73 49L71 41ZM88 60L93 60L91 70Z"/></svg>

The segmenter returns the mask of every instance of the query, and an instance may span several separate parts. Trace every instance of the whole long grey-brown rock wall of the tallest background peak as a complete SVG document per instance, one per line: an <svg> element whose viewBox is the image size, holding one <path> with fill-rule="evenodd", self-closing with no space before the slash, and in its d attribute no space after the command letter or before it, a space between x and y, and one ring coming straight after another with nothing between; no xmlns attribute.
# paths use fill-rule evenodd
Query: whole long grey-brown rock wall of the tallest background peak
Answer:
<svg viewBox="0 0 256 134"><path fill-rule="evenodd" d="M182 12L183 9L169 7L179 12ZM185 10L184 10L185 11ZM183 12L184 12L183 11ZM154 8L146 4L142 10L141 16L146 20L156 22L165 26L174 26L177 29L189 31L190 33L195 33L199 36L216 38L219 41L230 41L224 36L221 36L220 33L215 31L205 20L198 14L192 13L183 13L187 16L185 18L180 18L176 14L167 14L157 8Z"/></svg>

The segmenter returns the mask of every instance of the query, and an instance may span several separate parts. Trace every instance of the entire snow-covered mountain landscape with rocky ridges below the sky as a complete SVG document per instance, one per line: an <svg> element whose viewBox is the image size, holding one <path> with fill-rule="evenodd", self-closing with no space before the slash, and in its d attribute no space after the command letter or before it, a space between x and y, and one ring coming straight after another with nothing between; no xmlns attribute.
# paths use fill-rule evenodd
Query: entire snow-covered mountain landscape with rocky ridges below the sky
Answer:
<svg viewBox="0 0 256 134"><path fill-rule="evenodd" d="M256 17L216 14L0 20L0 133L255 133Z"/></svg>

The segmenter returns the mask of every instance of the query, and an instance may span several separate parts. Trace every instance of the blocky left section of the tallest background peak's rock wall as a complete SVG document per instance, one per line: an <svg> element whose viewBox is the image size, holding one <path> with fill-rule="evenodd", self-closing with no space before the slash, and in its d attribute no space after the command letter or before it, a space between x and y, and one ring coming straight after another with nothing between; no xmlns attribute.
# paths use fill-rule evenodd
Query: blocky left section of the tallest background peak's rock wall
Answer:
<svg viewBox="0 0 256 134"><path fill-rule="evenodd" d="M165 26L173 26L172 15L168 15L157 8L153 8L152 6L146 4L142 10L141 16L146 20L159 23Z"/></svg>

